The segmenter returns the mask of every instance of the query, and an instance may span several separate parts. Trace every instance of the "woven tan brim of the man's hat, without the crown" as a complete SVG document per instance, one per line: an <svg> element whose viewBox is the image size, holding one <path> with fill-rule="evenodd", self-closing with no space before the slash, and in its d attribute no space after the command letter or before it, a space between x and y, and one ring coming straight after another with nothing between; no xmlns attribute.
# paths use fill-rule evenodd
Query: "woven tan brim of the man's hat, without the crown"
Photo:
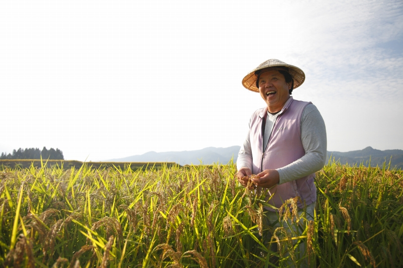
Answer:
<svg viewBox="0 0 403 268"><path fill-rule="evenodd" d="M245 77L242 79L242 85L250 91L259 92L259 88L256 87L256 71L262 70L265 68L270 67L287 67L288 72L290 73L291 77L294 79L294 89L300 86L305 81L305 73L300 68L290 65L290 64L271 64L269 66L259 66L249 72Z"/></svg>

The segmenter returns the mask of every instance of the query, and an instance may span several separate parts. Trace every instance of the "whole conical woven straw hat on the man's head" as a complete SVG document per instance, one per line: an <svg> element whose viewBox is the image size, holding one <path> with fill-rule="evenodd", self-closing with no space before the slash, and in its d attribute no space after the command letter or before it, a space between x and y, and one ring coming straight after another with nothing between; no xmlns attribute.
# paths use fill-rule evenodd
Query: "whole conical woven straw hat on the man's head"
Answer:
<svg viewBox="0 0 403 268"><path fill-rule="evenodd" d="M294 79L294 89L300 86L305 80L305 73L298 67L287 64L278 59L269 59L254 68L242 79L242 85L250 91L259 92L259 88L256 87L256 79L259 74L259 70L270 68L268 70L285 70L288 71Z"/></svg>

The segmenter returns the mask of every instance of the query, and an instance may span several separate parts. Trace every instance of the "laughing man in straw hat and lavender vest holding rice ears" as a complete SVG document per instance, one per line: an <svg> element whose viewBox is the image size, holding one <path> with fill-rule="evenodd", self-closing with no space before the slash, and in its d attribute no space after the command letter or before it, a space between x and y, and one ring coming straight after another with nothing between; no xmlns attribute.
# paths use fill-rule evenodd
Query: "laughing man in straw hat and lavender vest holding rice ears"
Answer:
<svg viewBox="0 0 403 268"><path fill-rule="evenodd" d="M245 88L260 93L266 106L250 118L238 154L237 178L246 187L249 177L257 175L251 180L268 191L266 201L272 206L265 209L272 223L278 220L278 209L292 198L299 200L299 214L305 209L307 220L314 215L314 177L326 160L326 129L313 104L291 97L304 80L300 68L277 59L263 62L242 80ZM274 227L282 225L280 221Z"/></svg>

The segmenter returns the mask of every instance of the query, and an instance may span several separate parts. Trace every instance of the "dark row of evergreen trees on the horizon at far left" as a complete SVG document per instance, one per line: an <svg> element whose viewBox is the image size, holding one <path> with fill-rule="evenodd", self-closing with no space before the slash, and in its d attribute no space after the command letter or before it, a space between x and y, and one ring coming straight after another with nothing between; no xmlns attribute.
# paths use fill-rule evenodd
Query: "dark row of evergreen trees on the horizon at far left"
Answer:
<svg viewBox="0 0 403 268"><path fill-rule="evenodd" d="M42 150L39 150L39 148L14 149L12 154L2 152L0 159L40 159L41 155L42 159L64 160L63 152L58 148L48 150L46 147L43 147Z"/></svg>

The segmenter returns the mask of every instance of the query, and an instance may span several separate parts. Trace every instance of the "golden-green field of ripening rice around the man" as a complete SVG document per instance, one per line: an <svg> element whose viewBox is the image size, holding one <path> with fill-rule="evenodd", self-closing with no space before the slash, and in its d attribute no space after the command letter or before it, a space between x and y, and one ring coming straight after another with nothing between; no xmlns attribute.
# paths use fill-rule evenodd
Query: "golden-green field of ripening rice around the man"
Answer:
<svg viewBox="0 0 403 268"><path fill-rule="evenodd" d="M0 265L403 266L401 170L329 163L316 176L317 217L302 221L298 236L264 220L264 197L239 187L235 172L233 163L138 171L6 168ZM281 217L296 217L287 212ZM280 250L270 250L259 233L271 235ZM298 256L301 243L306 252Z"/></svg>

